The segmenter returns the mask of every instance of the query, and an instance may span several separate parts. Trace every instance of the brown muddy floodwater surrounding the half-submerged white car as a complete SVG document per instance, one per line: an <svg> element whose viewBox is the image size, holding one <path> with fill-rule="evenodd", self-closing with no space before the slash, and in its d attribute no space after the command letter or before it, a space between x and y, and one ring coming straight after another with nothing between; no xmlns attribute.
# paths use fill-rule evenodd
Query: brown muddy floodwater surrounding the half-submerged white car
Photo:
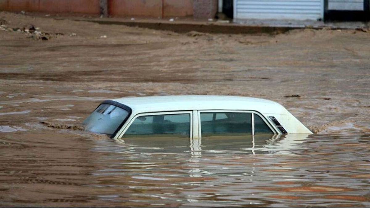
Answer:
<svg viewBox="0 0 370 208"><path fill-rule="evenodd" d="M369 30L174 33L6 12L0 23L2 207L370 206ZM193 94L273 100L316 134L81 130L106 99Z"/></svg>

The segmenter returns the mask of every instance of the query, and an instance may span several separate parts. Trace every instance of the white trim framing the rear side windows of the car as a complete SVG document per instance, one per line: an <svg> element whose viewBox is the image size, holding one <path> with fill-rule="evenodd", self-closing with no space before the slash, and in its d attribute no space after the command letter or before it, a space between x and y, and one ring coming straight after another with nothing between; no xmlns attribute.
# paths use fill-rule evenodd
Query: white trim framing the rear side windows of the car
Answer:
<svg viewBox="0 0 370 208"><path fill-rule="evenodd" d="M250 110L198 110L198 135L199 138L202 138L202 126L201 126L201 113L251 113L252 116L252 136L255 136L255 125L254 125L254 114L259 115L260 118L266 123L270 130L274 134L279 134L275 128L270 124L270 122L258 111Z"/></svg>

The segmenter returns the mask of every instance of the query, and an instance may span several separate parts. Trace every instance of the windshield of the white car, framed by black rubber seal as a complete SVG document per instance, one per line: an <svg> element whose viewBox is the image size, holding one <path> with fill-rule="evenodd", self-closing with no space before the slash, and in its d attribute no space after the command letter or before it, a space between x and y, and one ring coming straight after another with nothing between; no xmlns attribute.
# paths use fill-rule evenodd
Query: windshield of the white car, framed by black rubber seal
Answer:
<svg viewBox="0 0 370 208"><path fill-rule="evenodd" d="M112 135L125 120L128 111L111 104L100 104L82 123L86 131Z"/></svg>

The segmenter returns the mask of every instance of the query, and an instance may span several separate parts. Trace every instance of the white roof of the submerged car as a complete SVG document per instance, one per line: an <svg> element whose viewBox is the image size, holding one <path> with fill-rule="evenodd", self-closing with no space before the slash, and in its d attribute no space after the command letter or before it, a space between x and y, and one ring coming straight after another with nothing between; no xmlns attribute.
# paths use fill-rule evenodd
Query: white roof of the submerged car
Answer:
<svg viewBox="0 0 370 208"><path fill-rule="evenodd" d="M286 109L270 100L224 95L170 95L112 99L127 105L132 113L184 110L254 110L260 113L285 114Z"/></svg>

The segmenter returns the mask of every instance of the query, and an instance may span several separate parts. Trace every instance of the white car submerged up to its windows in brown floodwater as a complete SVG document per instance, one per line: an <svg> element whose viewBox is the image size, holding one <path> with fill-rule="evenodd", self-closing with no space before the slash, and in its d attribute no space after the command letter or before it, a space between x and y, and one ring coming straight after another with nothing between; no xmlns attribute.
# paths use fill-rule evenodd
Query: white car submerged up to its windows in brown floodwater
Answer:
<svg viewBox="0 0 370 208"><path fill-rule="evenodd" d="M103 101L83 122L111 138L311 134L282 105L216 95L127 97Z"/></svg>

